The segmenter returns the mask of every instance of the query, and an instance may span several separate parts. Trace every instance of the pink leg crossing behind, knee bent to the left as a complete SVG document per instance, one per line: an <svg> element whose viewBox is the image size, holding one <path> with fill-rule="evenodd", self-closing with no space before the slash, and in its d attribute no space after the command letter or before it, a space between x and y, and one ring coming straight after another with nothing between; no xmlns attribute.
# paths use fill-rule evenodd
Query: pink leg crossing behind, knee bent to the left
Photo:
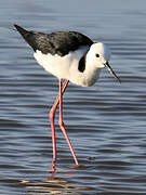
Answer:
<svg viewBox="0 0 146 195"><path fill-rule="evenodd" d="M62 93L65 92L67 84L69 80L65 80L65 83L62 88ZM51 129L52 129L52 144L53 144L53 161L52 161L52 170L55 171L55 165L56 165L56 139L55 139L55 126L54 126L54 118L55 118L55 112L57 108L57 105L59 103L59 95L56 98L51 110L50 110L50 121L51 121Z"/></svg>

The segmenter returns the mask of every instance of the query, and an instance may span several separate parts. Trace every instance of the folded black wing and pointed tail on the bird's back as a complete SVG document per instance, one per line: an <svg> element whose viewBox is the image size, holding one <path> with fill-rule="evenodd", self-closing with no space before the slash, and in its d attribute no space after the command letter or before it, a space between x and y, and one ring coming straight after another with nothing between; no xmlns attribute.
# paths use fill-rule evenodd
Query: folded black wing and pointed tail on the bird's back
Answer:
<svg viewBox="0 0 146 195"><path fill-rule="evenodd" d="M64 56L69 51L75 51L81 46L90 47L93 43L90 38L77 31L43 34L28 31L17 25L14 26L34 51L40 50L43 54L51 53L52 55Z"/></svg>

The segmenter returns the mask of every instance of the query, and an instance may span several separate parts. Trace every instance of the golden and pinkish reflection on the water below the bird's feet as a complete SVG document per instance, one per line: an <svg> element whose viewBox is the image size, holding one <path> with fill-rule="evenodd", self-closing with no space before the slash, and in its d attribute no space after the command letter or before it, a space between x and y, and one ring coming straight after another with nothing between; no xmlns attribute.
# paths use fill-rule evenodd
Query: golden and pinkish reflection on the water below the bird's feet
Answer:
<svg viewBox="0 0 146 195"><path fill-rule="evenodd" d="M47 180L21 180L22 188L26 188L28 193L51 193L51 194L82 194L82 191L85 192L95 192L95 188L90 185L79 184L77 180L77 176L79 171L85 171L87 169L93 169L92 166L75 166L70 167L70 170L51 172L49 171L49 176ZM77 174L76 174L77 173ZM75 182L69 182L69 180L75 180ZM77 181L76 181L77 180ZM18 184L17 183L17 184ZM19 185L19 184L18 184Z"/></svg>

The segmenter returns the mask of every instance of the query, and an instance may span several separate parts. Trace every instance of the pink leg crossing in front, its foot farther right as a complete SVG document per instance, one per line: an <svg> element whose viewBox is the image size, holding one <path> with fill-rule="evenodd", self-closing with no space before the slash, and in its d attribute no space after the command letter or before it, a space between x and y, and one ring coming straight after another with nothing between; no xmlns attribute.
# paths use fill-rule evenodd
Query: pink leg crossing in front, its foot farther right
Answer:
<svg viewBox="0 0 146 195"><path fill-rule="evenodd" d="M67 132L65 130L65 126L63 122L63 108L62 108L63 107L63 99L62 99L62 96L63 96L63 93L62 93L62 79L61 79L59 80L59 127L61 127L61 130L63 131L63 134L64 134L64 136L68 143L68 146L69 146L70 152L72 154L74 160L75 160L76 165L78 166L79 165L78 159L76 157L76 154L75 154L74 148L71 146L71 142L67 135Z"/></svg>

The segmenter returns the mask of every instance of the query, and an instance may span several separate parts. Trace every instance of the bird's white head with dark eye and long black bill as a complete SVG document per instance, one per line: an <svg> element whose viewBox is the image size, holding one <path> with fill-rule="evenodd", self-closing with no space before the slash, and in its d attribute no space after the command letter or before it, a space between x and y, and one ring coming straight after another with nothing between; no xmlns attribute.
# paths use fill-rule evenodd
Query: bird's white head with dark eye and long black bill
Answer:
<svg viewBox="0 0 146 195"><path fill-rule="evenodd" d="M93 43L88 52L87 60L97 68L106 67L110 74L121 82L120 78L115 74L112 68L109 66L110 49L102 42Z"/></svg>

